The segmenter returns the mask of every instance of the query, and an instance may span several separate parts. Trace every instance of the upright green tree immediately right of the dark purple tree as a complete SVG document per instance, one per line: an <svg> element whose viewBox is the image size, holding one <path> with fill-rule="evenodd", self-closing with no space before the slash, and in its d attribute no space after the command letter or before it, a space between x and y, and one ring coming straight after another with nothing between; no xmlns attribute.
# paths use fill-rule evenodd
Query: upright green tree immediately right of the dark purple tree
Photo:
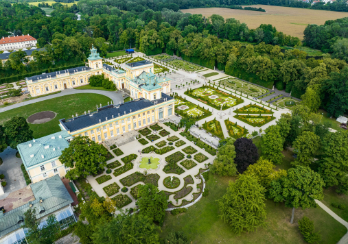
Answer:
<svg viewBox="0 0 348 244"><path fill-rule="evenodd" d="M262 136L261 141L262 156L276 164L280 164L284 156L281 154L283 150L283 138L281 138L279 127L270 125L265 132L266 134Z"/></svg>

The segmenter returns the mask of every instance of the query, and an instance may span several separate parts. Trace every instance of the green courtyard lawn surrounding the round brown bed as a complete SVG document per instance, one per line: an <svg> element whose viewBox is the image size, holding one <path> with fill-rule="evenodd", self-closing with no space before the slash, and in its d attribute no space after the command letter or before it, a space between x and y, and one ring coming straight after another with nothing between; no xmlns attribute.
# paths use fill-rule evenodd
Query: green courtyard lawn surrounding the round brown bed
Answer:
<svg viewBox="0 0 348 244"><path fill-rule="evenodd" d="M30 115L42 111L54 111L57 113L56 118L47 123L30 124L30 129L34 131L34 138L47 136L49 134L60 132L59 119L70 119L71 115L78 113L83 114L84 111L95 110L95 105L102 103L107 105L110 98L93 93L73 94L62 97L56 97L46 101L39 101L20 108L14 108L0 113L0 124L8 121L14 116L24 117L27 119Z"/></svg>

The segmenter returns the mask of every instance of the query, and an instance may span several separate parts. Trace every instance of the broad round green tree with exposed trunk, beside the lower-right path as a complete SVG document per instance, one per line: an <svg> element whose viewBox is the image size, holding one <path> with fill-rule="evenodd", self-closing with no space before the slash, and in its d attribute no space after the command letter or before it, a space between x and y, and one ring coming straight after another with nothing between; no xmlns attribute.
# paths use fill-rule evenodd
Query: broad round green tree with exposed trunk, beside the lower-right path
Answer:
<svg viewBox="0 0 348 244"><path fill-rule="evenodd" d="M295 208L314 208L314 199L322 200L325 183L321 175L309 167L290 168L288 175L270 183L270 198L275 202L285 202L292 208L290 223L294 222Z"/></svg>

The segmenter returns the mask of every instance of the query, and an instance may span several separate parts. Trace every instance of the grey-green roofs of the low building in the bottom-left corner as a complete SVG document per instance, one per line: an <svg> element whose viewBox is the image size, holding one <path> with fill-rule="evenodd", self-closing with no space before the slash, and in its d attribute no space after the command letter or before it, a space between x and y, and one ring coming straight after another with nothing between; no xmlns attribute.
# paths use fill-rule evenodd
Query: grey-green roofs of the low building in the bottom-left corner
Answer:
<svg viewBox="0 0 348 244"><path fill-rule="evenodd" d="M59 175L41 180L32 184L30 187L35 197L35 200L32 201L32 208L36 209L36 219L48 216L60 210L60 208L73 203L73 199L69 195L62 180L60 180ZM43 200L42 203L40 203L40 197ZM21 228L24 222L19 223L19 219L24 219L24 213L29 208L30 204L27 203L4 214L0 212L0 237ZM44 212L40 213L40 210L44 210Z"/></svg>

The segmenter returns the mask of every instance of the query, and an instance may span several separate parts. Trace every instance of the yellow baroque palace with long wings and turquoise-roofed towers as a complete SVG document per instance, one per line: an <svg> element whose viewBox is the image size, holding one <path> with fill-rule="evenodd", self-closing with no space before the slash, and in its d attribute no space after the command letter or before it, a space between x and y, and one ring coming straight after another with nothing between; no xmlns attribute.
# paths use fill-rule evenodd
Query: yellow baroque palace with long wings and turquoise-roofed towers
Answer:
<svg viewBox="0 0 348 244"><path fill-rule="evenodd" d="M54 175L64 177L69 168L59 161L62 150L69 147L75 136L88 136L96 143L139 130L174 114L174 98L170 93L170 79L152 73L154 64L147 60L126 64L126 71L102 63L92 48L89 67L47 73L26 78L31 95L53 93L89 83L92 75L104 73L117 88L130 90L133 101L100 106L97 110L72 114L59 120L61 132L33 139L17 146L32 183Z"/></svg>

